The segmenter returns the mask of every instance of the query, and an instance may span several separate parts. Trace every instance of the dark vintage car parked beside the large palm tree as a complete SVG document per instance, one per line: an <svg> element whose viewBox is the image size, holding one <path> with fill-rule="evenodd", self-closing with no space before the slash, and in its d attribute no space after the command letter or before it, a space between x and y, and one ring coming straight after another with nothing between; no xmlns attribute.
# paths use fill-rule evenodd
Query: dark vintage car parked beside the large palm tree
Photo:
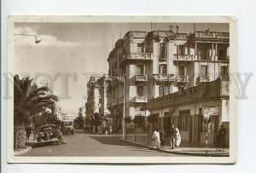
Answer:
<svg viewBox="0 0 256 173"><path fill-rule="evenodd" d="M55 124L43 125L38 128L38 142L59 144L60 141Z"/></svg>

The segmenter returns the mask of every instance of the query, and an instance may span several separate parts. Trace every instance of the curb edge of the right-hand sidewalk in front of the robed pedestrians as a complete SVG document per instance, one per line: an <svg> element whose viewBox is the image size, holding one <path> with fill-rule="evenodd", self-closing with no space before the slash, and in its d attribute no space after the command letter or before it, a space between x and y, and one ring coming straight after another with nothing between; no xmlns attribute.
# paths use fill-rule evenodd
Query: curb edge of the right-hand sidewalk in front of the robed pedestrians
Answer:
<svg viewBox="0 0 256 173"><path fill-rule="evenodd" d="M130 143L130 144L134 144L134 145L137 145L137 146L140 146L140 147L147 147L148 149L151 149L151 147L148 147L147 145L144 145L144 144L140 144L140 143L136 143L136 142L133 142L133 141L126 141L122 138L119 138L119 141L124 141L124 142L127 142L127 143ZM189 156L207 156L207 157L230 157L230 154L214 154L214 153L188 153L188 152L179 152L179 151L166 151L166 150L163 150L163 149L156 149L156 148L153 148L151 150L154 150L154 151L158 151L158 152L161 152L161 153L174 153L174 154L180 154L180 155L189 155Z"/></svg>

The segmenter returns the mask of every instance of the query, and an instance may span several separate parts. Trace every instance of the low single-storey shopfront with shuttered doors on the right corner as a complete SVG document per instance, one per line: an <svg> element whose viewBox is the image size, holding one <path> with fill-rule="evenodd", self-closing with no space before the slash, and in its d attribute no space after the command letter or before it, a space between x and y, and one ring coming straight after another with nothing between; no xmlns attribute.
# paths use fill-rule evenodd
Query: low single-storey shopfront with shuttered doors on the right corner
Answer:
<svg viewBox="0 0 256 173"><path fill-rule="evenodd" d="M214 82L219 84L219 81ZM218 89L213 90L215 84L206 84L206 89L196 86L192 89L178 91L148 101L148 108L152 114L158 115L156 127L170 130L174 124L180 130L182 141L205 142L208 130L208 142L213 144L214 136L218 134L219 125L222 123L227 131L226 145L229 145L229 97L220 95ZM200 96L196 96L201 91ZM212 92L214 91L214 92ZM187 94L186 94L187 93ZM189 93L189 95L188 95ZM192 94L191 94L192 93ZM206 107L214 107L208 124L204 122Z"/></svg>

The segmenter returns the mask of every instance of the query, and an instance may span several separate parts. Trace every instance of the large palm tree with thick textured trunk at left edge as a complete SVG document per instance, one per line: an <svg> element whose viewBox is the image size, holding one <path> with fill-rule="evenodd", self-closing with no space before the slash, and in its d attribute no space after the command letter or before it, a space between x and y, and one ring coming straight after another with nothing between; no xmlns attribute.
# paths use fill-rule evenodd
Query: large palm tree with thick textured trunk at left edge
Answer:
<svg viewBox="0 0 256 173"><path fill-rule="evenodd" d="M25 124L31 121L33 115L47 109L54 112L55 101L58 97L49 94L47 87L32 85L29 77L20 79L14 77L14 147L26 147Z"/></svg>

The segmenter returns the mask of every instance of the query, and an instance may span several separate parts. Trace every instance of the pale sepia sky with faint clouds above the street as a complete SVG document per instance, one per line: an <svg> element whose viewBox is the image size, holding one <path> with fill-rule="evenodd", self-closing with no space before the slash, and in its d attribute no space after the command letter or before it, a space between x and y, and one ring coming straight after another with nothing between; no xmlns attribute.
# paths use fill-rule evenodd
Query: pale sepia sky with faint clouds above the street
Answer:
<svg viewBox="0 0 256 173"><path fill-rule="evenodd" d="M153 23L153 31L193 32L193 23ZM229 32L228 24L196 23L196 31ZM90 75L108 73L108 54L114 43L129 31L151 31L150 23L15 23L15 73L29 75L37 83L48 80L53 94L60 96L63 112L77 113L84 107ZM175 27L173 27L173 31ZM63 84L61 75L69 76ZM67 89L63 94L63 86ZM65 96L66 95L66 96ZM69 96L67 98L67 95Z"/></svg>

